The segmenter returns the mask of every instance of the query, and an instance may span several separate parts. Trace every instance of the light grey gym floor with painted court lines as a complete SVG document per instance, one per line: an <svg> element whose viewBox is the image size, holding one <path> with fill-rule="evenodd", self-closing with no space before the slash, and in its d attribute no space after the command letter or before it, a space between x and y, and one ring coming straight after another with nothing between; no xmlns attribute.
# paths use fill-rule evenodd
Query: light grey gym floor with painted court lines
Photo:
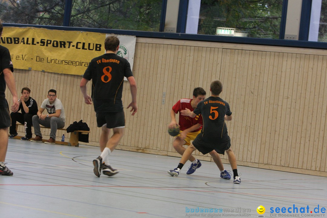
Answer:
<svg viewBox="0 0 327 218"><path fill-rule="evenodd" d="M242 183L234 184L220 178L215 163L208 161L186 175L188 161L176 177L167 170L180 158L115 150L110 163L120 172L98 178L92 160L99 154L99 147L9 139L6 162L14 176L0 176L0 217L326 215L326 177L239 166ZM262 215L257 212L261 205L266 209Z"/></svg>

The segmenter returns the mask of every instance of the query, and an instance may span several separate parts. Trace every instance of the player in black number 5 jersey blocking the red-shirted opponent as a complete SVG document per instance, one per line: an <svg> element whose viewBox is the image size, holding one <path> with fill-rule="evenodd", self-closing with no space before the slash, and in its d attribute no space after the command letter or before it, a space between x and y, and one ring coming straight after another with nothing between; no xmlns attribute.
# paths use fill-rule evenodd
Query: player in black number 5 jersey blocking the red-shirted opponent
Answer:
<svg viewBox="0 0 327 218"><path fill-rule="evenodd" d="M211 96L199 102L197 108L193 111L190 111L190 109L181 110L181 114L184 116L195 117L201 114L203 127L191 146L185 150L177 168L169 170L168 173L178 176L185 162L197 149L202 154L207 154L213 150L225 154L226 151L233 170L234 183L240 184L241 178L237 173L236 158L231 149L231 139L228 136L225 123L225 121L232 120L232 112L229 104L219 97L222 92L222 83L218 80L213 81L210 85L210 92Z"/></svg>

